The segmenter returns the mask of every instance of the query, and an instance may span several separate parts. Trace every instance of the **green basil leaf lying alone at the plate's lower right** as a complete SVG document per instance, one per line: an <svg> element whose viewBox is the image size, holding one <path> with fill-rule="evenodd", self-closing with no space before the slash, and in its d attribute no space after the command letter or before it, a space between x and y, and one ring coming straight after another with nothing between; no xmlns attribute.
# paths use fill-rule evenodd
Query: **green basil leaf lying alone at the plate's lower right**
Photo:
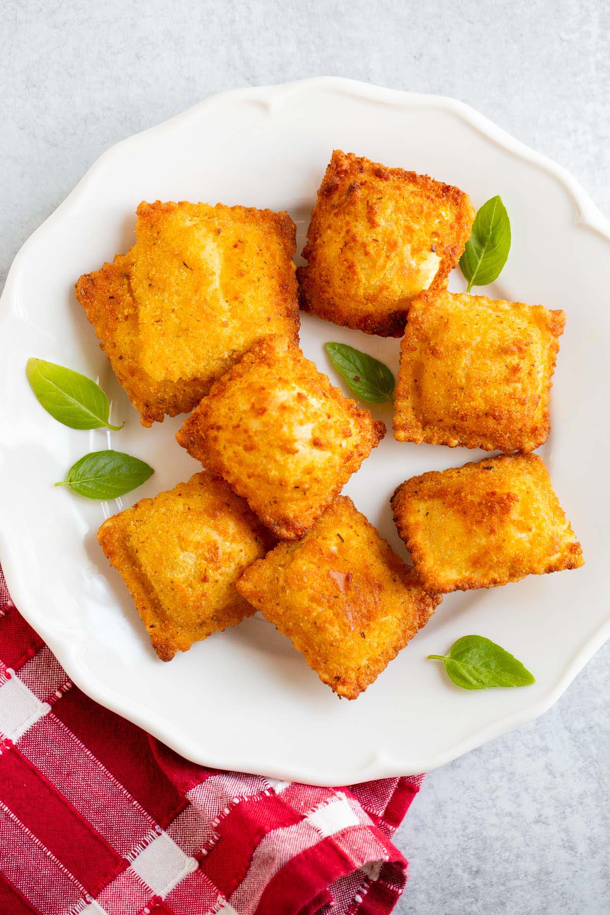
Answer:
<svg viewBox="0 0 610 915"><path fill-rule="evenodd" d="M491 686L530 686L536 679L512 654L482 635L465 635L448 655L429 654L443 661L444 669L463 689L488 689Z"/></svg>

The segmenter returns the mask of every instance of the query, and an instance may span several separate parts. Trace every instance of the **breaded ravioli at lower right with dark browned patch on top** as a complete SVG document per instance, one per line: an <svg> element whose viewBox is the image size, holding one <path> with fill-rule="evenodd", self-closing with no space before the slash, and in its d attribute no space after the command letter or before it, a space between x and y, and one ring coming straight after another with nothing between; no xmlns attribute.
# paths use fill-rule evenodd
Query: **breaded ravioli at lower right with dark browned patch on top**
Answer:
<svg viewBox="0 0 610 915"><path fill-rule="evenodd" d="M425 587L466 591L583 565L538 455L501 455L412 477L394 521Z"/></svg>

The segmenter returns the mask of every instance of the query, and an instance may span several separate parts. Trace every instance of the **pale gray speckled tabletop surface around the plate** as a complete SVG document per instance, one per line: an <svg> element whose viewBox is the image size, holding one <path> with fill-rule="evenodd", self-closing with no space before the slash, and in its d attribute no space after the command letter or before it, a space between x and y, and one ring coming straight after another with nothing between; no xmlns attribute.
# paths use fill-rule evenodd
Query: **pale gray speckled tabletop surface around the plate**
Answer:
<svg viewBox="0 0 610 915"><path fill-rule="evenodd" d="M109 145L212 92L331 74L474 105L610 215L600 0L5 0L0 271ZM610 912L610 646L546 716L433 772L401 915Z"/></svg>

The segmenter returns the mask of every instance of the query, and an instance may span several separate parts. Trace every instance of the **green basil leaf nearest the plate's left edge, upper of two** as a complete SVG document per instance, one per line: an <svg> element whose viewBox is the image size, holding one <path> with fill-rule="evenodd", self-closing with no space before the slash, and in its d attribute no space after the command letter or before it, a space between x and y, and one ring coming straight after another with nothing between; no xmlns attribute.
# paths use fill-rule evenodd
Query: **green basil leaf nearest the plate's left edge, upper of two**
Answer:
<svg viewBox="0 0 610 915"><path fill-rule="evenodd" d="M79 371L66 369L44 359L28 359L27 381L38 403L70 429L113 429L123 425L108 422L110 404L102 388Z"/></svg>

